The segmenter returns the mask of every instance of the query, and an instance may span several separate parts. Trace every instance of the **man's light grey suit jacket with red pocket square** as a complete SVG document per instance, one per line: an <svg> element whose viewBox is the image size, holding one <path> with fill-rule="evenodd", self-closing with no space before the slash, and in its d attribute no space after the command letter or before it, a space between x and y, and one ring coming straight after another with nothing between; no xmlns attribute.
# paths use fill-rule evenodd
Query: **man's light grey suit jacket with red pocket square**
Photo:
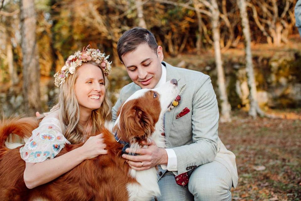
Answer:
<svg viewBox="0 0 301 201"><path fill-rule="evenodd" d="M166 146L177 155L178 171L174 171L174 174L179 175L216 160L229 170L233 186L236 187L238 175L235 155L226 149L218 136L219 109L210 77L198 71L173 67L166 62L162 64L166 66L166 81L179 80L179 88L186 84L179 105L165 113ZM135 83L122 88L112 108L114 121L121 104L140 89ZM176 115L185 107L190 112L176 119ZM160 171L159 178L166 170L160 168Z"/></svg>

